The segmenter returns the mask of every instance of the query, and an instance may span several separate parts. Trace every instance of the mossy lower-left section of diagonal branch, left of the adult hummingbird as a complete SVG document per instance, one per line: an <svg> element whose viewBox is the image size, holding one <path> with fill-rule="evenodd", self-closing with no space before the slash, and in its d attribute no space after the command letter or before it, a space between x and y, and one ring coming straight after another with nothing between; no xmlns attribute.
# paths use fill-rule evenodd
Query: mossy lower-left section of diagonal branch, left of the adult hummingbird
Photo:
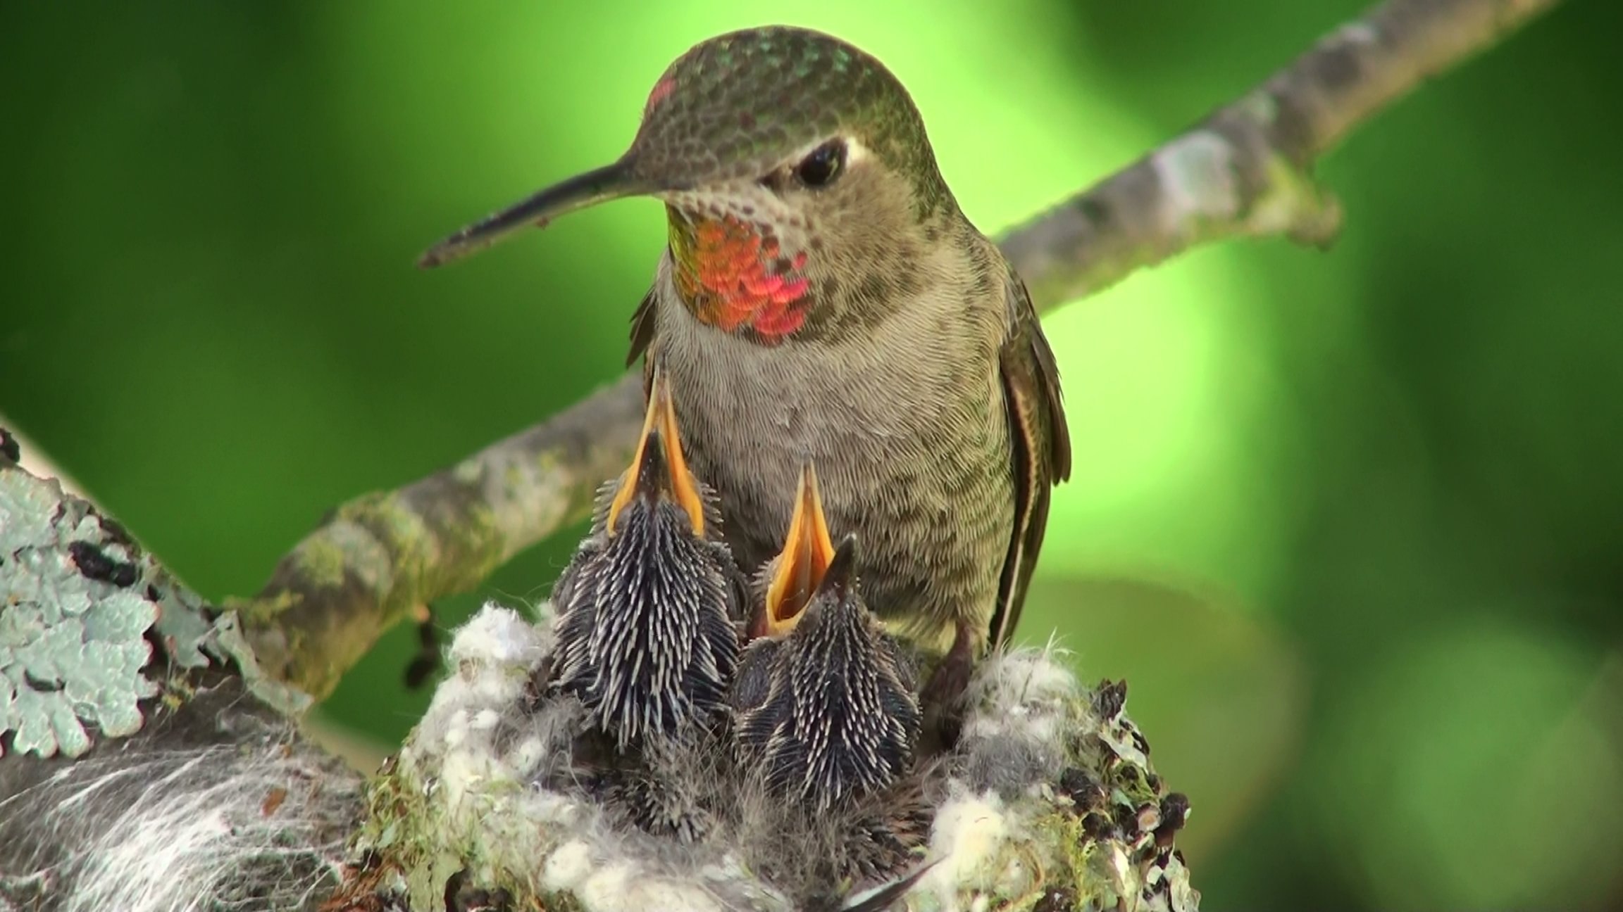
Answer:
<svg viewBox="0 0 1623 912"><path fill-rule="evenodd" d="M404 488L329 514L237 609L261 667L325 696L417 605L479 586L495 568L584 516L625 469L641 427L633 378Z"/></svg>

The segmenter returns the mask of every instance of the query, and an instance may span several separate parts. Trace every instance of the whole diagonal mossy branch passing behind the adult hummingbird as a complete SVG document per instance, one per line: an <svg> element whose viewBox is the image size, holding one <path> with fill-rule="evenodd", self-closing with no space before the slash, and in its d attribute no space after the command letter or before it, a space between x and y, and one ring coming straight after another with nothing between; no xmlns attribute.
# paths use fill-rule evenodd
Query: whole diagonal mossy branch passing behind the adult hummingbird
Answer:
<svg viewBox="0 0 1623 912"><path fill-rule="evenodd" d="M1261 88L1011 230L1003 250L1039 308L1097 292L1196 243L1284 234L1328 243L1336 201L1315 161L1425 78L1558 0L1389 0ZM626 376L542 425L393 493L341 506L240 602L265 665L323 696L419 604L584 516L628 459L641 415Z"/></svg>

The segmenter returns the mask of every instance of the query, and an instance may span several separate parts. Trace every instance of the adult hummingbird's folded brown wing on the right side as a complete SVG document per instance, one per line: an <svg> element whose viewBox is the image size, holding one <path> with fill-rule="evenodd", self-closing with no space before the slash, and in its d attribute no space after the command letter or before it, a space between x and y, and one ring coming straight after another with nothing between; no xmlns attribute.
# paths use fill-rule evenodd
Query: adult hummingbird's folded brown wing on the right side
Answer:
<svg viewBox="0 0 1623 912"><path fill-rule="evenodd" d="M1000 352L1003 399L1013 437L1014 532L998 604L992 612L990 644L1001 646L1014 633L1026 587L1037 566L1042 536L1048 527L1052 487L1071 477L1071 432L1060 398L1060 368L1042 334L1026 282L1008 271L1008 336Z"/></svg>

